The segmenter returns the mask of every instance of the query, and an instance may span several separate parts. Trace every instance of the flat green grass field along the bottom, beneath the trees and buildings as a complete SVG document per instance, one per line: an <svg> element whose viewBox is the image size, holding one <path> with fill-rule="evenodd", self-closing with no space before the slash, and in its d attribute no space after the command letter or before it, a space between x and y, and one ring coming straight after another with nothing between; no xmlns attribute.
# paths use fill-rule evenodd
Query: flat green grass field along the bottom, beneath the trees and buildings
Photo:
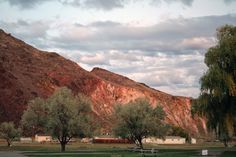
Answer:
<svg viewBox="0 0 236 157"><path fill-rule="evenodd" d="M73 143L66 147L66 152L60 152L59 144L20 144L6 147L0 143L0 151L22 151L29 157L197 157L202 149L208 149L212 155L219 157L236 157L236 147L224 148L222 144L202 145L144 145L145 148L155 148L156 154L128 151L132 144L81 144Z"/></svg>

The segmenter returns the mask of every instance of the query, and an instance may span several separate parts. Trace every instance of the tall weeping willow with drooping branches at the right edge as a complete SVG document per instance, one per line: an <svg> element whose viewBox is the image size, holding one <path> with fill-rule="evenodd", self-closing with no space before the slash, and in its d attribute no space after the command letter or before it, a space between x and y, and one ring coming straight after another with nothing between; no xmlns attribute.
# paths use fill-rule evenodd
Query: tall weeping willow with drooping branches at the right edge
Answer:
<svg viewBox="0 0 236 157"><path fill-rule="evenodd" d="M207 118L208 128L227 146L235 133L236 27L217 30L217 44L205 54L207 72L201 77L201 93L192 111Z"/></svg>

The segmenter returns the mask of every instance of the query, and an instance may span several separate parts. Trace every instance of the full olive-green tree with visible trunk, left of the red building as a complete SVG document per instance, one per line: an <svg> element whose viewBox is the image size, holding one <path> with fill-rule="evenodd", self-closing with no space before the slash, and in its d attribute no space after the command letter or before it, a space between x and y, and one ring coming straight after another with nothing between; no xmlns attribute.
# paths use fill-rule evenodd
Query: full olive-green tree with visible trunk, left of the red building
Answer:
<svg viewBox="0 0 236 157"><path fill-rule="evenodd" d="M59 140L61 151L65 151L72 137L91 132L91 102L85 96L74 96L71 90L63 87L48 99L48 105L48 129Z"/></svg>

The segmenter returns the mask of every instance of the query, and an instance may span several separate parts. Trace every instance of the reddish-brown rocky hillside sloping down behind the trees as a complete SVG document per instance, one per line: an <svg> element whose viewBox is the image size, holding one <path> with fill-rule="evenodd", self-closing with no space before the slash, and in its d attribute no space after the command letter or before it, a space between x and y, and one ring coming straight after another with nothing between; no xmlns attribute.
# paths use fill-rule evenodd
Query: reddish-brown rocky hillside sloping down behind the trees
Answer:
<svg viewBox="0 0 236 157"><path fill-rule="evenodd" d="M152 105L163 106L169 124L195 135L206 131L203 119L191 117L190 98L166 94L104 69L88 72L55 52L37 50L0 30L0 121L18 123L30 99L46 98L61 86L89 96L105 130L112 124L109 115L115 104L147 97Z"/></svg>

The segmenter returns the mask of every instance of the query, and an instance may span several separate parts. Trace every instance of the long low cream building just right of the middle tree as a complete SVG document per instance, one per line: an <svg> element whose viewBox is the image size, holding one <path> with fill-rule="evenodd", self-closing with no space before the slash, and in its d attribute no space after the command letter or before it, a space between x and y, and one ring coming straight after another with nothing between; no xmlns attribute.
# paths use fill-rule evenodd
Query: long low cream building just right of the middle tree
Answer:
<svg viewBox="0 0 236 157"><path fill-rule="evenodd" d="M180 136L166 136L164 139L150 137L143 139L143 143L152 144L185 144L186 139Z"/></svg>

